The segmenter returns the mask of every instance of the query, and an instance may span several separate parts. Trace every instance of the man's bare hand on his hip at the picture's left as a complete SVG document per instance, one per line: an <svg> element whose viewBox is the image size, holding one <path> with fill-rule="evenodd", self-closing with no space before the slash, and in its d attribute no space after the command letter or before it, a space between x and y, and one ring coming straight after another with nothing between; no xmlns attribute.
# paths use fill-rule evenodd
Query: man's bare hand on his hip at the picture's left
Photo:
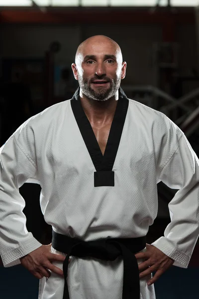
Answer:
<svg viewBox="0 0 199 299"><path fill-rule="evenodd" d="M65 257L51 253L51 244L42 245L26 256L20 258L21 265L29 270L36 278L50 277L50 271L64 276L63 271L51 262L64 262ZM49 271L50 270L50 271Z"/></svg>

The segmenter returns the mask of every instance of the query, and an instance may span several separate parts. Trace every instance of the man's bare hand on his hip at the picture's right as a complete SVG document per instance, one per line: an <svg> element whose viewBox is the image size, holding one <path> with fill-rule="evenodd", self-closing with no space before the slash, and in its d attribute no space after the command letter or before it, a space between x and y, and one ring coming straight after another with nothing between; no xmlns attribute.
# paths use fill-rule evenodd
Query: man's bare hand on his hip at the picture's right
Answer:
<svg viewBox="0 0 199 299"><path fill-rule="evenodd" d="M173 259L169 258L155 246L149 244L146 244L145 252L139 252L135 255L135 257L136 259L145 259L145 262L142 262L138 265L140 278L143 278L154 271L156 272L153 278L147 282L148 286L155 283L159 277L174 263Z"/></svg>

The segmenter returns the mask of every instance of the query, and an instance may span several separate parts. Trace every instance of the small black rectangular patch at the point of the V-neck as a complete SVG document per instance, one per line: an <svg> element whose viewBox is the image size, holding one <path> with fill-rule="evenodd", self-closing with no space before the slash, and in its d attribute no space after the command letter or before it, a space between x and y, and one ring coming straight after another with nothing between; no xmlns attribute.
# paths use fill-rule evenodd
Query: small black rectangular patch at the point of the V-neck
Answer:
<svg viewBox="0 0 199 299"><path fill-rule="evenodd" d="M94 172L94 186L114 186L114 171L95 171Z"/></svg>

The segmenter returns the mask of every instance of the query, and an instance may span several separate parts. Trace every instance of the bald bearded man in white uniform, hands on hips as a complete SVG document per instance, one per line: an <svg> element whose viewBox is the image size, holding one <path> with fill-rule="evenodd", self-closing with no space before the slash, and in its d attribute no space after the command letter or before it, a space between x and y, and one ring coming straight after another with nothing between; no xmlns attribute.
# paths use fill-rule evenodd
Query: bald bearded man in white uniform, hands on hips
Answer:
<svg viewBox="0 0 199 299"><path fill-rule="evenodd" d="M72 69L73 99L30 118L1 148L3 264L21 262L41 279L39 299L155 299L153 283L188 266L199 235L199 160L165 115L126 98L113 40L84 41ZM25 228L18 187L28 180L41 184L52 247ZM179 191L165 236L145 248L160 180Z"/></svg>

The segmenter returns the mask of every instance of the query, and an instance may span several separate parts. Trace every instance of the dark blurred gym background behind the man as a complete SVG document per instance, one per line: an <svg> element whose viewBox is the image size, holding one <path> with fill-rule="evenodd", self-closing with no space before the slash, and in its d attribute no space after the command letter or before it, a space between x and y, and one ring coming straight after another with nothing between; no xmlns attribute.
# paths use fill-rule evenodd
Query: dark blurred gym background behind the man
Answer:
<svg viewBox="0 0 199 299"><path fill-rule="evenodd" d="M26 119L72 97L78 45L104 34L127 62L129 98L165 113L199 155L199 0L0 0L0 146ZM159 212L148 243L164 234L176 190L158 184ZM51 228L40 186L24 184L27 228L43 244ZM155 284L157 299L196 299L199 242L188 269L172 267ZM183 282L183 283L182 283ZM10 288L11 286L11 288ZM38 281L21 266L0 267L0 299L36 299Z"/></svg>

